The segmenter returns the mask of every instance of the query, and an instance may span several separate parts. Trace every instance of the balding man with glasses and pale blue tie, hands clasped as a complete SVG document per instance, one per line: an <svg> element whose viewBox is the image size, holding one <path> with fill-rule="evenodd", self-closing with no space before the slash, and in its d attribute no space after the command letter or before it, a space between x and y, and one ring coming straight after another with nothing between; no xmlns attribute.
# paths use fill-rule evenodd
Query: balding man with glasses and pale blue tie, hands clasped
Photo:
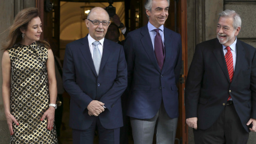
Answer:
<svg viewBox="0 0 256 144"><path fill-rule="evenodd" d="M85 20L89 34L66 46L63 86L69 93L73 143L119 143L121 95L127 86L123 46L105 39L108 13L93 8Z"/></svg>

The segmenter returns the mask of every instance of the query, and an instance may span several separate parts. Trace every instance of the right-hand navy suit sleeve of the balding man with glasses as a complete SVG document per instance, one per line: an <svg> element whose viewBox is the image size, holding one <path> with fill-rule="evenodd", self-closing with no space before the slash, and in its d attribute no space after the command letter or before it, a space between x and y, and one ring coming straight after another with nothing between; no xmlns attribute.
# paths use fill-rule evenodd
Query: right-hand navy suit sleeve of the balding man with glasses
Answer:
<svg viewBox="0 0 256 144"><path fill-rule="evenodd" d="M124 49L121 46L117 64L117 75L111 89L102 95L99 101L105 103L105 107L111 111L113 103L115 103L123 94L127 87L127 66L125 61Z"/></svg>

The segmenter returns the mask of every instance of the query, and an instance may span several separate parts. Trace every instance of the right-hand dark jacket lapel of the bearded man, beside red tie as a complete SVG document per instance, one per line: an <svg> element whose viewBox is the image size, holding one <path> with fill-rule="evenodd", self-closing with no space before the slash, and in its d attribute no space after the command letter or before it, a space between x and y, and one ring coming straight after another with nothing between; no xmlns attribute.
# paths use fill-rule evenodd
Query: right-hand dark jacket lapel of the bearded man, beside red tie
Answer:
<svg viewBox="0 0 256 144"><path fill-rule="evenodd" d="M240 69L243 65L243 61L244 61L243 58L245 58L244 47L242 46L240 41L237 39L237 42L236 42L236 68L234 71L233 79L235 79L239 74L239 71L240 71Z"/></svg>

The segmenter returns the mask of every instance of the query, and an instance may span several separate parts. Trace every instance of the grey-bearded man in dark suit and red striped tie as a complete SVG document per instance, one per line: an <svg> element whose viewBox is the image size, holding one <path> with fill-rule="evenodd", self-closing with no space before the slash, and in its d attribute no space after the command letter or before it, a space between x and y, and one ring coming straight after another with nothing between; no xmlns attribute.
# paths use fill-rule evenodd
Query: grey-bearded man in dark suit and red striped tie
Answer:
<svg viewBox="0 0 256 144"><path fill-rule="evenodd" d="M186 82L186 121L195 143L247 143L256 130L256 49L237 39L241 18L219 14L217 38L200 43Z"/></svg>

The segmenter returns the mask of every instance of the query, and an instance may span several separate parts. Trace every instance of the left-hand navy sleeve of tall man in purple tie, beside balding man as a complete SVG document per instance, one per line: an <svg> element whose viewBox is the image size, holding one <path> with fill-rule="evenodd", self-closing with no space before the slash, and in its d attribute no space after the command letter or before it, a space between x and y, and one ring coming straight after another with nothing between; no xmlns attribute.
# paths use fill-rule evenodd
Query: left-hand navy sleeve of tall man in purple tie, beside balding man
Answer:
<svg viewBox="0 0 256 144"><path fill-rule="evenodd" d="M131 89L132 84L132 76L133 76L133 68L134 68L134 61L135 61L135 53L133 50L134 42L132 41L132 37L127 34L124 42L124 51L125 51L125 58L127 62L127 78L128 78L128 85L127 91L129 92Z"/></svg>

